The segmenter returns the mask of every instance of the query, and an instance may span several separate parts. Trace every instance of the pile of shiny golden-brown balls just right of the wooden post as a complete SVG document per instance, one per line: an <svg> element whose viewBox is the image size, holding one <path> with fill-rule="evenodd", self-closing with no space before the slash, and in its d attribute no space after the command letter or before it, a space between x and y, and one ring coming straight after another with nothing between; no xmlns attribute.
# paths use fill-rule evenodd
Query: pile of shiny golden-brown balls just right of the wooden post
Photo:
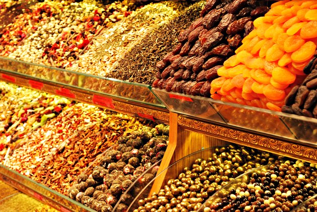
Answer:
<svg viewBox="0 0 317 212"><path fill-rule="evenodd" d="M188 212L197 210L215 191L249 169L273 164L276 157L247 147L216 148L207 160L196 159L177 179L170 179L159 193L138 201L137 211ZM282 159L282 158L279 158Z"/></svg>

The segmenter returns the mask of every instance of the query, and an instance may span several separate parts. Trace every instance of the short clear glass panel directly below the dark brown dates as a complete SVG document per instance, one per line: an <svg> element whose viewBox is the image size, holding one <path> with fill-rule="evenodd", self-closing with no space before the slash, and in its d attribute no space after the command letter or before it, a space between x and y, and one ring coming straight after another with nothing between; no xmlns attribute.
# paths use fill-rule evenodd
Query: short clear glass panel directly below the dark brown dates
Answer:
<svg viewBox="0 0 317 212"><path fill-rule="evenodd" d="M206 101L208 98L167 92L159 88L152 88L152 91L172 112L224 123L224 120L215 111L213 105L211 105L209 101Z"/></svg>

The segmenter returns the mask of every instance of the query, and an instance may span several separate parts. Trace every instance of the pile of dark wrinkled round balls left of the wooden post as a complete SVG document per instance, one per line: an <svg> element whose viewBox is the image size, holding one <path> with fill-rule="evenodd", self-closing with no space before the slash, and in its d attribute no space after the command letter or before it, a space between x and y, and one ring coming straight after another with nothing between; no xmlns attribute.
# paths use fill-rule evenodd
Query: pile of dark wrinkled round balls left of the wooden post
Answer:
<svg viewBox="0 0 317 212"><path fill-rule="evenodd" d="M118 139L118 147L108 151L89 174L81 174L69 189L69 197L97 211L124 211L142 188L156 175L159 166L143 174L163 158L169 143L169 126L144 127ZM142 175L143 174L143 175ZM141 176L142 175L142 176ZM133 189L127 189L136 181ZM124 193L124 194L123 194Z"/></svg>

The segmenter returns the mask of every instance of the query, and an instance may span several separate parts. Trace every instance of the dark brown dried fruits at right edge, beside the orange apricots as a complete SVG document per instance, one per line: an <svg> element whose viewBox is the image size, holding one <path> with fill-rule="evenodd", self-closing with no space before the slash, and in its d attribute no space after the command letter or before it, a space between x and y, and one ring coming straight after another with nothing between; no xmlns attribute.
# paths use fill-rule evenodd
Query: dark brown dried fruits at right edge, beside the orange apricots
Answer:
<svg viewBox="0 0 317 212"><path fill-rule="evenodd" d="M309 73L301 85L296 85L285 98L282 112L317 118L317 52L310 64L305 67ZM305 72L304 69L304 72Z"/></svg>

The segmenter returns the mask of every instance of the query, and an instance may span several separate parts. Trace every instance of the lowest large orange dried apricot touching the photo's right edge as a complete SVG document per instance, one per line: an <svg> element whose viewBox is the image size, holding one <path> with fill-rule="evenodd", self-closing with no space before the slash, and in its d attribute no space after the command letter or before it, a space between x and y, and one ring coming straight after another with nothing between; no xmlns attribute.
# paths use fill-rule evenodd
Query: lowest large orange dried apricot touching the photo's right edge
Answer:
<svg viewBox="0 0 317 212"><path fill-rule="evenodd" d="M311 41L306 42L298 50L292 53L292 60L296 63L305 62L311 58L316 51L316 44Z"/></svg>

